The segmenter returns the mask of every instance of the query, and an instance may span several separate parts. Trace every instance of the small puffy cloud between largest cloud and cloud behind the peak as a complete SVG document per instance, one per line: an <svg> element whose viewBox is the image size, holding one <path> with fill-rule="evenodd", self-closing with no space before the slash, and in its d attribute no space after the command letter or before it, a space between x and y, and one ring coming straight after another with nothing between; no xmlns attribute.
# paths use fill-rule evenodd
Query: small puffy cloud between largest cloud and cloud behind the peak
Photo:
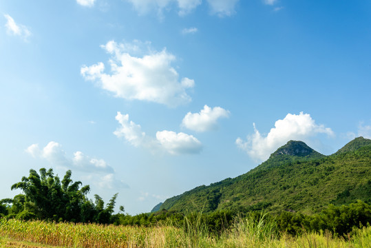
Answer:
<svg viewBox="0 0 371 248"><path fill-rule="evenodd" d="M200 113L192 114L188 112L183 118L182 126L197 132L215 130L218 127L218 119L227 118L229 114L229 111L224 110L222 107L211 108L208 105L204 105L204 109Z"/></svg>

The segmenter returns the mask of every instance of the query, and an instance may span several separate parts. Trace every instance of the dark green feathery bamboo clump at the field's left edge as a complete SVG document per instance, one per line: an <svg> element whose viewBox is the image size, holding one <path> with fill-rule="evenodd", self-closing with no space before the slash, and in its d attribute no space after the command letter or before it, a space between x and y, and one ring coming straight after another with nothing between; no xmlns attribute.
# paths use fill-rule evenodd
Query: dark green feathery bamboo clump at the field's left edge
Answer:
<svg viewBox="0 0 371 248"><path fill-rule="evenodd" d="M71 222L111 223L117 194L104 207L100 196L95 195L95 204L87 198L89 185L81 187L80 181L73 182L72 172L66 172L63 180L54 176L52 169L40 169L38 174L30 169L30 176L23 176L21 182L11 189L21 189L23 194L13 199L0 201L0 214L21 220L54 220Z"/></svg>

